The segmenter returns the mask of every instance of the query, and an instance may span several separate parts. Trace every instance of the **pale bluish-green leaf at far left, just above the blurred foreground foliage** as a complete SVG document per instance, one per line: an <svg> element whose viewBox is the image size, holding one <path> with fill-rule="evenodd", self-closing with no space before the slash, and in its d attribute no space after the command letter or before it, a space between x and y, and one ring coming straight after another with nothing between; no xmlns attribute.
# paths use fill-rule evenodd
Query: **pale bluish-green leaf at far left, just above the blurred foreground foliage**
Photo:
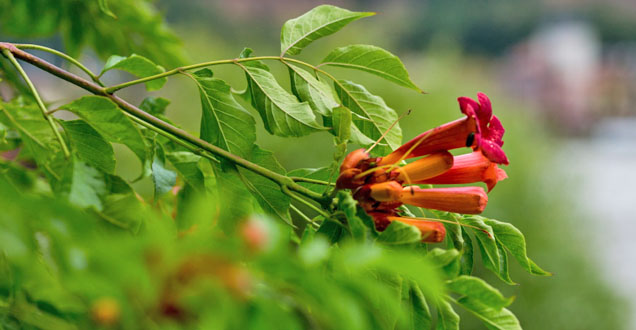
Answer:
<svg viewBox="0 0 636 330"><path fill-rule="evenodd" d="M72 160L56 190L78 207L103 210L101 196L106 193L104 175L81 160Z"/></svg>

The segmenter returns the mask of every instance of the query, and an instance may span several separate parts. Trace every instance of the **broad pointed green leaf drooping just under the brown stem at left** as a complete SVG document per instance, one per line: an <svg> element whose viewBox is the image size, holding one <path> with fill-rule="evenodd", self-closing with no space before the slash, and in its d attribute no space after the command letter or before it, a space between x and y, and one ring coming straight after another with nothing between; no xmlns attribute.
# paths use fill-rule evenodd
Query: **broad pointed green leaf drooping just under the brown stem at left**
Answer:
<svg viewBox="0 0 636 330"><path fill-rule="evenodd" d="M121 143L139 157L149 160L149 151L141 132L113 101L102 96L84 96L60 107L84 119L106 140Z"/></svg>

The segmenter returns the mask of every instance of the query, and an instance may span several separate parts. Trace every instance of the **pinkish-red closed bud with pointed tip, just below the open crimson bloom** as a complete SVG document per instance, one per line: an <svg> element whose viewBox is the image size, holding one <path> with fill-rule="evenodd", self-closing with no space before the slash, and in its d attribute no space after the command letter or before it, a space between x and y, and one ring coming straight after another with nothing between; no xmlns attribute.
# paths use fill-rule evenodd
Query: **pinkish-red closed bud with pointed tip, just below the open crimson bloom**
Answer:
<svg viewBox="0 0 636 330"><path fill-rule="evenodd" d="M422 184L463 184L484 182L488 192L508 175L479 151L456 156L450 170L429 179L413 181Z"/></svg>

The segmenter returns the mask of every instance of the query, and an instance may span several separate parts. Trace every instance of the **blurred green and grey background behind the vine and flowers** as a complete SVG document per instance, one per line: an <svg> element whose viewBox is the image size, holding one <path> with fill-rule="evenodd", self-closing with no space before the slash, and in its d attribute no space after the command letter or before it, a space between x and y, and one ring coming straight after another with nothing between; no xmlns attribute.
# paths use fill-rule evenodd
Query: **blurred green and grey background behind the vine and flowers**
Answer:
<svg viewBox="0 0 636 330"><path fill-rule="evenodd" d="M319 1L160 0L154 5L183 42L185 54L156 56L167 67L177 63L234 58L243 47L255 55L277 55L283 22L322 4ZM514 264L519 285L506 286L481 271L506 295L516 296L511 310L526 329L631 329L636 286L636 246L630 232L636 209L630 187L636 184L636 3L619 1L333 1L350 10L375 11L334 36L310 45L299 57L318 63L331 49L351 43L374 44L403 59L422 95L373 76L330 69L364 82L399 114L404 138L459 117L458 96L491 97L506 128L504 150L509 179L490 193L485 216L517 226L530 256L553 272L531 277ZM112 6L116 12L116 6ZM85 24L90 24L87 22ZM108 29L105 26L104 29ZM12 35L6 27L0 36ZM131 36L133 38L134 36ZM4 39L4 38L3 38ZM63 49L60 36L15 39ZM172 42L172 41L170 41ZM173 52L173 48L150 52ZM132 50L140 50L131 47ZM95 56L83 60L96 71ZM120 54L127 55L127 54ZM174 55L174 56L170 56ZM163 59L163 60L162 60ZM285 86L287 73L271 64ZM234 67L215 67L233 88L245 87ZM47 101L80 95L33 71ZM114 83L127 76L109 75ZM1 91L0 91L1 92ZM73 94L77 93L77 94ZM143 86L120 93L139 103ZM197 89L175 76L152 94L172 100L168 116L198 131ZM259 127L258 140L288 169L327 166L332 161L327 133L287 140ZM308 152L308 149L311 152ZM118 170L132 179L139 164L118 150ZM137 187L151 194L150 182ZM631 200L631 202L630 202ZM631 300L630 300L631 299ZM466 329L480 329L462 315Z"/></svg>

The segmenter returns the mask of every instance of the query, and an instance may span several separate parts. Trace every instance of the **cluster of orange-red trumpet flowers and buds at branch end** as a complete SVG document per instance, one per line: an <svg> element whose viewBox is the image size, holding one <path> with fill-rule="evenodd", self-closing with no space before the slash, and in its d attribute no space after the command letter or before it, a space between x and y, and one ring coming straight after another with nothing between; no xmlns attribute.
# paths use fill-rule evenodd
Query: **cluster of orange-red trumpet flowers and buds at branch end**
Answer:
<svg viewBox="0 0 636 330"><path fill-rule="evenodd" d="M383 231L392 221L416 226L424 242L441 242L446 230L442 223L402 217L398 207L414 205L464 214L481 213L488 195L481 187L422 188L420 184L467 184L484 182L488 191L507 178L498 164L508 165L501 149L504 128L483 93L475 101L458 98L465 118L426 131L392 153L372 158L358 149L344 159L336 182L338 189L351 189L354 198ZM448 150L470 147L473 152L453 156ZM407 158L420 157L407 165Z"/></svg>

